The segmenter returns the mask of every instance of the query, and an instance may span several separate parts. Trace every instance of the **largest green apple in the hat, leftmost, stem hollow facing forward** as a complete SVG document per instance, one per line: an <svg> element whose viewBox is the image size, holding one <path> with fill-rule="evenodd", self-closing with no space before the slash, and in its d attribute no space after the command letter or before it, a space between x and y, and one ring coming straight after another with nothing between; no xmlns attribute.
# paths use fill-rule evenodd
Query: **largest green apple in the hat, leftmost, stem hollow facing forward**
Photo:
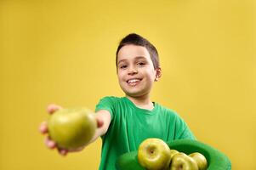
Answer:
<svg viewBox="0 0 256 170"><path fill-rule="evenodd" d="M171 160L168 144L162 139L145 139L139 144L138 161L148 170L166 169Z"/></svg>

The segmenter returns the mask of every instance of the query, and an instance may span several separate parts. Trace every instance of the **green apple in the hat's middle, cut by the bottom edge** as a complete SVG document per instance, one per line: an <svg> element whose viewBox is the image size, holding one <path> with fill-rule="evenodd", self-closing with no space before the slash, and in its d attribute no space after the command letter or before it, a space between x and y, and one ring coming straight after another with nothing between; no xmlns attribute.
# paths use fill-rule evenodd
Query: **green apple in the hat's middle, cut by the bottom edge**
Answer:
<svg viewBox="0 0 256 170"><path fill-rule="evenodd" d="M194 161L190 156L179 152L174 155L170 170L198 170L198 167L196 161Z"/></svg>

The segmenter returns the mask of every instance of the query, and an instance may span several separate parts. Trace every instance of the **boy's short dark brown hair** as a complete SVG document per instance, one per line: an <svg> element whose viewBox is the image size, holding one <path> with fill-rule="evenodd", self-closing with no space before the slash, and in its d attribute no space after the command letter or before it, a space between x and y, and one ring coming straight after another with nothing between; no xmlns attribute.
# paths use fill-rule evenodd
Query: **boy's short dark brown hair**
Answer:
<svg viewBox="0 0 256 170"><path fill-rule="evenodd" d="M116 52L116 66L117 66L117 54L119 50L125 45L137 45L137 46L145 47L148 50L149 54L151 55L151 60L153 62L154 68L157 69L160 67L156 48L147 39L135 33L128 34L128 36L122 38L121 42L119 42L117 52Z"/></svg>

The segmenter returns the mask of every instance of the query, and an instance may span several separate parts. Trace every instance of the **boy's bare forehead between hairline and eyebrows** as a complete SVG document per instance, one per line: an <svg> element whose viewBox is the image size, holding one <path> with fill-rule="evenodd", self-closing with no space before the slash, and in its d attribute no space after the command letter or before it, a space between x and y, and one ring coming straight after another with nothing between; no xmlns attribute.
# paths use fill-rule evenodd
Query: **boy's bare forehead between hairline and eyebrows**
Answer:
<svg viewBox="0 0 256 170"><path fill-rule="evenodd" d="M138 57L151 59L151 56L145 47L137 45L125 45L119 50L117 54L117 62L123 59L135 59Z"/></svg>

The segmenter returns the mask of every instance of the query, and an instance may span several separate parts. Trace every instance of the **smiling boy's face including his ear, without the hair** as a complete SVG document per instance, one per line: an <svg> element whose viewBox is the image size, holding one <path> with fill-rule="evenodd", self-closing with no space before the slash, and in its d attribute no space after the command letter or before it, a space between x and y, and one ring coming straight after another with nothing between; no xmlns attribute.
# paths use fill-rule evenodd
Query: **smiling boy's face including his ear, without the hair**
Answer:
<svg viewBox="0 0 256 170"><path fill-rule="evenodd" d="M117 54L117 77L122 91L130 97L150 94L153 82L160 77L151 56L142 46L125 45Z"/></svg>

